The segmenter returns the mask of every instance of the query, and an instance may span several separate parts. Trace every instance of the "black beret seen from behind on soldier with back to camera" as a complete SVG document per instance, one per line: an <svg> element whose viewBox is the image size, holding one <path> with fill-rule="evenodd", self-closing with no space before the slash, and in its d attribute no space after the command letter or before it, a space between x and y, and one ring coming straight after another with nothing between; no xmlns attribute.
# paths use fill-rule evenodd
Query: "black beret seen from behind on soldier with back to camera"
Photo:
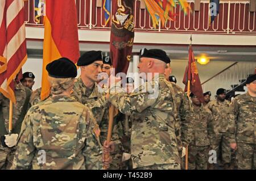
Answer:
<svg viewBox="0 0 256 181"><path fill-rule="evenodd" d="M68 58L59 58L46 66L50 77L54 78L75 78L77 75L76 65Z"/></svg>

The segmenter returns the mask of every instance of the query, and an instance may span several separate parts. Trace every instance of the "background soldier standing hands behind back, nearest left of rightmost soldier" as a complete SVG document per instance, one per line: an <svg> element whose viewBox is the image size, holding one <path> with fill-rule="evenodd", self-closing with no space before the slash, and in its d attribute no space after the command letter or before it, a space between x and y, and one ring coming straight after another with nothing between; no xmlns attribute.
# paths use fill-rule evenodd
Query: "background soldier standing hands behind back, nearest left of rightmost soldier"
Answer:
<svg viewBox="0 0 256 181"><path fill-rule="evenodd" d="M212 112L213 115L213 129L215 136L210 138L210 149L216 150L217 158L219 154L222 157L222 163L224 164L224 169L229 169L231 161L231 149L229 146L229 137L228 137L228 123L230 121L229 108L230 103L228 100L225 100L226 90L218 89L217 99L212 100L207 104L207 108ZM221 145L221 153L220 153ZM220 163L218 163L220 164ZM210 167L213 167L210 165Z"/></svg>

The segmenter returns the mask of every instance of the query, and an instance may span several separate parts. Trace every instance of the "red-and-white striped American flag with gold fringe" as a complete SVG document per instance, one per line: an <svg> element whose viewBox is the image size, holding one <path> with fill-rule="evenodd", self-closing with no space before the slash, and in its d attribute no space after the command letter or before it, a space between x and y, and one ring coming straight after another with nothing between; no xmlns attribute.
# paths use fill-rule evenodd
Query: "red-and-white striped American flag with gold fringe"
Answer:
<svg viewBox="0 0 256 181"><path fill-rule="evenodd" d="M14 103L14 79L26 60L24 0L1 0L0 92Z"/></svg>

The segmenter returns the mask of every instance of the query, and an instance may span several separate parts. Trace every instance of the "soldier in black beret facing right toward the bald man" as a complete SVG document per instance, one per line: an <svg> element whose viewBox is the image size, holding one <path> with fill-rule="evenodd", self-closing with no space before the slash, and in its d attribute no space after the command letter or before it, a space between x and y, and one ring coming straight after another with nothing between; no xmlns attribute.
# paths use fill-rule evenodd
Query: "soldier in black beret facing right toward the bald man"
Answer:
<svg viewBox="0 0 256 181"><path fill-rule="evenodd" d="M78 96L80 103L88 106L93 116L100 125L101 144L104 143L108 134L109 104L106 101L106 94L98 86L98 74L102 72L103 55L101 51L89 51L79 58L77 66L80 66L81 76L75 80L73 93Z"/></svg>

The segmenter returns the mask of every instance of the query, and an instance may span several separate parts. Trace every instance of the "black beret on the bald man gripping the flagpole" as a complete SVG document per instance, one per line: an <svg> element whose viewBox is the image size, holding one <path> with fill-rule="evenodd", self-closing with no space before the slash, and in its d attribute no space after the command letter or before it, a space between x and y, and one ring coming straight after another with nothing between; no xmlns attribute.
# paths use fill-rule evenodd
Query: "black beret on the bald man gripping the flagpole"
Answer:
<svg viewBox="0 0 256 181"><path fill-rule="evenodd" d="M163 62L166 62L166 64L170 64L171 60L167 56L166 52L161 49L141 49L141 57L147 57L147 58L155 58L158 60L162 60Z"/></svg>

